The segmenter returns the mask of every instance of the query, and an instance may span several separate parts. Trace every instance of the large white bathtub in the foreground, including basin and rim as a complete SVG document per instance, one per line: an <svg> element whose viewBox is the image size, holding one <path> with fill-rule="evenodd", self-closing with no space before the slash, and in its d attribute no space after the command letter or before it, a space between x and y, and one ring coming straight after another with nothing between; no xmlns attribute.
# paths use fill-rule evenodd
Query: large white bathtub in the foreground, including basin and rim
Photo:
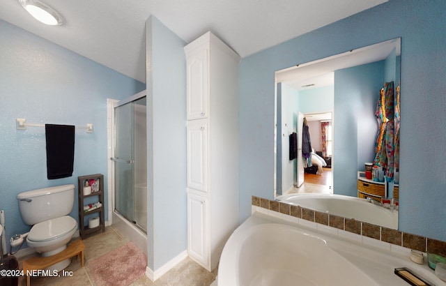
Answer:
<svg viewBox="0 0 446 286"><path fill-rule="evenodd" d="M399 267L408 267L433 283L440 281L428 266L410 262L408 255L390 253L390 246L388 251L364 247L289 220L253 213L226 241L217 285L408 285L394 275Z"/></svg>

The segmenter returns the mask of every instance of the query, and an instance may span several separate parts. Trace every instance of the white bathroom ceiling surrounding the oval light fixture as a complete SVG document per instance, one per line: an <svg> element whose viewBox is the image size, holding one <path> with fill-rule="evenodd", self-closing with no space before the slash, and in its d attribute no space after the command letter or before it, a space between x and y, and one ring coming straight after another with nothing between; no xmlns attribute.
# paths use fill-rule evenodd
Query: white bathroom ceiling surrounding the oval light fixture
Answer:
<svg viewBox="0 0 446 286"><path fill-rule="evenodd" d="M145 22L150 15L186 43L212 31L246 57L387 0L41 1L65 24L40 24L19 0L1 0L0 19L146 82Z"/></svg>

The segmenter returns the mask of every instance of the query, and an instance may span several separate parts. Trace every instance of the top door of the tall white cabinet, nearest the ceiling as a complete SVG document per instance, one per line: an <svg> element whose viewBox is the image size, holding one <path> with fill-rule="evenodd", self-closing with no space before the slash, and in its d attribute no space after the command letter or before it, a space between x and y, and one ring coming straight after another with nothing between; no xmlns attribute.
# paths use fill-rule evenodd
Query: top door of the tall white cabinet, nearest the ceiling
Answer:
<svg viewBox="0 0 446 286"><path fill-rule="evenodd" d="M187 54L187 120L208 116L208 49Z"/></svg>

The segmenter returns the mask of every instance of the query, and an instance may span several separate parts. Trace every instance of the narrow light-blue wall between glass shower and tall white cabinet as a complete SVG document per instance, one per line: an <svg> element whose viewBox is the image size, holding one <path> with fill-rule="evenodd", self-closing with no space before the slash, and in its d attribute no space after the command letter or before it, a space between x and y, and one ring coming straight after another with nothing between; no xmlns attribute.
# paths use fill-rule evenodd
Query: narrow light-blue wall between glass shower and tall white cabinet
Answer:
<svg viewBox="0 0 446 286"><path fill-rule="evenodd" d="M187 248L185 45L156 17L148 18L147 239L153 271Z"/></svg>

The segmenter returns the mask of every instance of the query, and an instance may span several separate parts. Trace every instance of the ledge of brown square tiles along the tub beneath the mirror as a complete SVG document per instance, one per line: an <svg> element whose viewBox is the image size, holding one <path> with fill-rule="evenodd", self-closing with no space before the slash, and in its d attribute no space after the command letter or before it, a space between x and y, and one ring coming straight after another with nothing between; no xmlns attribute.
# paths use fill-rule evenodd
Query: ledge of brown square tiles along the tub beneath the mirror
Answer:
<svg viewBox="0 0 446 286"><path fill-rule="evenodd" d="M255 211L395 253L408 255L410 249L416 249L446 256L446 241L252 196L252 212Z"/></svg>

